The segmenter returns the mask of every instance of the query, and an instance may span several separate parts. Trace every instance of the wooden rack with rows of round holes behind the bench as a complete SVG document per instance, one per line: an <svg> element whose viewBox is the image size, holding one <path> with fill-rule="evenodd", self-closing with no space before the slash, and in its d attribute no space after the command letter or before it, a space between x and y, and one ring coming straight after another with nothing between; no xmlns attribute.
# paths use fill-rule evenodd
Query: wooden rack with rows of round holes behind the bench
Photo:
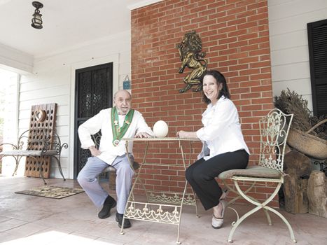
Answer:
<svg viewBox="0 0 327 245"><path fill-rule="evenodd" d="M29 123L29 148L31 150L41 150L43 144L35 141L42 141L46 136L53 136L55 130L55 120L57 113L57 104L40 104L32 106L31 118ZM33 141L33 142L32 142ZM39 165L39 162L41 163ZM25 176L40 177L39 167L44 178L50 176L50 158L32 158L27 157L25 162Z"/></svg>

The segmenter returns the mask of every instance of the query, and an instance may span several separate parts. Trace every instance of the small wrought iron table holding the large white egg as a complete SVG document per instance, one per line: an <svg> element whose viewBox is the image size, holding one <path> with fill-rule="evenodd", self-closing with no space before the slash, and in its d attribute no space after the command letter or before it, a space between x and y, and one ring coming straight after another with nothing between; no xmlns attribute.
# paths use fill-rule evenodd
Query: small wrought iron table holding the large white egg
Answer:
<svg viewBox="0 0 327 245"><path fill-rule="evenodd" d="M155 191L155 190L146 190L146 185L144 184L144 179L141 179L140 175L142 172L142 168L145 166L166 166L166 167L182 167L183 170L186 170L186 167L190 165L190 158L188 159L188 163L186 165L186 153L183 151L183 145L189 144L190 146L190 153L192 149L192 141L197 141L198 139L195 138L187 138L187 139L180 139L180 138L124 138L123 140L126 141L126 152L128 154L128 144L130 141L144 141L146 143L146 147L144 148L144 158L141 162L139 167L139 172L135 173L134 183L132 185L132 189L130 191L130 195L127 200L127 204L125 207L125 212L123 216L123 223L125 218L139 220L139 221L151 221L155 223L166 223L171 225L177 225L177 241L176 244L181 244L179 241L179 230L181 224L181 211L183 208L183 204L186 205L193 205L195 206L196 216L197 214L197 203L195 200L195 195L192 192L187 193L187 181L185 179L185 186L183 188L183 192L170 192L170 191ZM169 163L153 163L153 162L146 162L146 155L148 153L148 146L149 142L159 142L159 141L169 141L172 143L178 143L180 148L181 160L183 165L176 164L169 164ZM129 159L130 160L130 159ZM130 160L130 163L132 161ZM131 165L132 166L132 165ZM137 202L134 199L134 190L137 185L140 185L141 188L144 190L146 195L146 202ZM123 225L120 228L120 235L123 235Z"/></svg>

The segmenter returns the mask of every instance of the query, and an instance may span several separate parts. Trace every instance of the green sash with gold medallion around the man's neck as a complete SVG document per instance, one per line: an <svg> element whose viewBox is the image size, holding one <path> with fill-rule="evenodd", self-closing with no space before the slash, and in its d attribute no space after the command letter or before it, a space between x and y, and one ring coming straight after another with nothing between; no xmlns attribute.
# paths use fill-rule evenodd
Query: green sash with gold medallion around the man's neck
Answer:
<svg viewBox="0 0 327 245"><path fill-rule="evenodd" d="M134 116L134 110L130 109L125 116L123 127L119 127L119 118L116 106L111 109L111 129L113 130L113 146L118 146L120 139L122 139L125 133L132 123Z"/></svg>

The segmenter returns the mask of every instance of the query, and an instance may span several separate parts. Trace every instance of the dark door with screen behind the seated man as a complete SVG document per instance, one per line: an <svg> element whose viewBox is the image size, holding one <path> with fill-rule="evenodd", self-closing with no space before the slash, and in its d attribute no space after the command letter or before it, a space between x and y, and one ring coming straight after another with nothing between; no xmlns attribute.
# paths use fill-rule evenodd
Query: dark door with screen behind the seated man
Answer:
<svg viewBox="0 0 327 245"><path fill-rule="evenodd" d="M102 109L112 106L113 63L76 70L74 120L74 179L90 157L90 151L81 148L78 127Z"/></svg>

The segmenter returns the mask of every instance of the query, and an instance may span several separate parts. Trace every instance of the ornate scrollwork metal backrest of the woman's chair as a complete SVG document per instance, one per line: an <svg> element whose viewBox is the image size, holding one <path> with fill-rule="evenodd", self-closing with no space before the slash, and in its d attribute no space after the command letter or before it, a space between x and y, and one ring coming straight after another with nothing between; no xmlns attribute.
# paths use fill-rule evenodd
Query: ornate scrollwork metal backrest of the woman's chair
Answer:
<svg viewBox="0 0 327 245"><path fill-rule="evenodd" d="M272 109L259 121L260 166L283 172L286 139L292 120L293 114Z"/></svg>

